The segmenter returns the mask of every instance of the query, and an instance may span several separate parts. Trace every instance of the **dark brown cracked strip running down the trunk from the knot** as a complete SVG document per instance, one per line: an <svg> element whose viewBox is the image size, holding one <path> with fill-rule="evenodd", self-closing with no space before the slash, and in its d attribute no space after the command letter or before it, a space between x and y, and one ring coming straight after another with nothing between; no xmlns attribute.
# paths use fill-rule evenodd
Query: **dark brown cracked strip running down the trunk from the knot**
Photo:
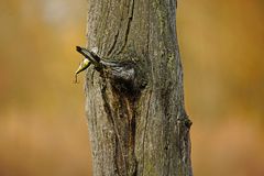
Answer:
<svg viewBox="0 0 264 176"><path fill-rule="evenodd" d="M102 99L108 120L111 122L116 135L116 165L119 175L135 175L138 161L135 158L135 124L136 108L140 90L134 87L134 76L129 70L135 65L131 62L105 63L99 69L102 77ZM129 76L123 75L128 72ZM127 79L128 78L128 79ZM112 95L109 97L109 94ZM118 100L117 102L114 102ZM119 105L118 107L116 105ZM120 111L121 110L121 111ZM127 119L124 119L127 117ZM125 132L123 132L125 131Z"/></svg>

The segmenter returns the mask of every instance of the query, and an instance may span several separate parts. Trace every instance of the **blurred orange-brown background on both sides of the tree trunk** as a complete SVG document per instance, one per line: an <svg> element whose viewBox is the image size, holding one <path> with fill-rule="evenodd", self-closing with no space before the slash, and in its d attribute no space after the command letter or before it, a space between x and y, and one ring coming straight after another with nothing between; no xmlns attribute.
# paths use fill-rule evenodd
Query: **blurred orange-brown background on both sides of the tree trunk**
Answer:
<svg viewBox="0 0 264 176"><path fill-rule="evenodd" d="M0 176L91 175L86 7L0 1ZM179 0L177 30L195 175L263 176L264 1Z"/></svg>

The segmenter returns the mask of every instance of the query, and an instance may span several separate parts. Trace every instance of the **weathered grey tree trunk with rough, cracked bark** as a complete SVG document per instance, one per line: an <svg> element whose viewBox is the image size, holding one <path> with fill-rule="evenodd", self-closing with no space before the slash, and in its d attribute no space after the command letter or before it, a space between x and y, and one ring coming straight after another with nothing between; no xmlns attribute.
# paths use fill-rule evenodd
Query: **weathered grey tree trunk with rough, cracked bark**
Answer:
<svg viewBox="0 0 264 176"><path fill-rule="evenodd" d="M175 0L88 0L94 176L191 176Z"/></svg>

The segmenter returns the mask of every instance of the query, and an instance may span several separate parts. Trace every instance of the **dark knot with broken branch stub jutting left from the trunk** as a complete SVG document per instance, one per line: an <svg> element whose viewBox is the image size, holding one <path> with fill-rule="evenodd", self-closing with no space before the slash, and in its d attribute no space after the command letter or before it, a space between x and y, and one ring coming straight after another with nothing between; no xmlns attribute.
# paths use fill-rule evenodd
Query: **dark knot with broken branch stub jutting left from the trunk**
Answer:
<svg viewBox="0 0 264 176"><path fill-rule="evenodd" d="M122 54L112 59L103 59L96 53L80 46L76 46L76 51L86 57L84 67L80 66L76 74L92 64L101 77L110 80L116 90L133 96L139 95L141 89L147 85L145 74L142 73L143 65L138 62L135 54Z"/></svg>

